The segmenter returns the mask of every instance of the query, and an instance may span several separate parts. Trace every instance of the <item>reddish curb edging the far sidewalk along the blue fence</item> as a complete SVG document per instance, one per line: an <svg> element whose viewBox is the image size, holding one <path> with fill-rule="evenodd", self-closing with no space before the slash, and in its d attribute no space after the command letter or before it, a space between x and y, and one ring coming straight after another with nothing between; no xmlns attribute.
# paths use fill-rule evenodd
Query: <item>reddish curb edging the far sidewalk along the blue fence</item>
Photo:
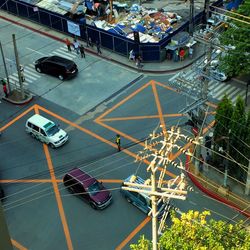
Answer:
<svg viewBox="0 0 250 250"><path fill-rule="evenodd" d="M9 13L8 13L8 14L9 14ZM9 15L11 15L11 14L9 14ZM8 22L14 23L14 24L16 24L16 25L19 25L19 26L21 26L21 27L24 27L24 28L26 28L26 29L32 30L32 31L34 31L34 32L36 32L36 33L39 33L39 34L42 34L42 35L44 35L44 36L50 37L50 38L52 38L52 39L54 39L54 40L56 40L56 41L59 41L59 42L63 42L63 43L64 43L64 39L59 38L58 36L49 34L48 32L44 32L44 31L42 31L42 30L39 30L39 29L30 27L30 26L28 26L28 25L26 25L26 24L22 24L22 23L20 23L20 22L18 22L18 21L11 20L10 18L5 17L5 16L2 16L2 15L0 15L0 18L6 20L6 21L8 21ZM25 20L26 20L26 19L25 19ZM29 21L29 20L26 20L26 21ZM30 21L29 21L29 22L30 22ZM43 27L43 26L42 26L42 27ZM59 31L56 31L56 32L59 32ZM60 33L60 32L59 32L59 33ZM63 34L63 33L61 33L61 34ZM65 36L68 36L68 35L65 34ZM97 52L92 51L92 50L89 50L89 49L87 49L87 48L85 48L85 50L86 50L88 53L90 53L90 54L93 54L93 55L95 55L95 56L98 56L98 57L101 57L101 58L103 58L103 59L109 60L109 61L111 61L111 62L113 62L113 63L122 65L122 66L124 66L124 67L129 68L129 69L136 70L136 71L142 72L142 73L152 73L152 74L167 74L167 73L171 74L171 73L174 73L174 72L176 72L176 71L183 70L183 69L189 67L193 62L199 60L202 56L205 55L205 52L204 52L204 53L202 53L200 56L198 56L197 58L195 58L193 61L191 61L190 63L188 63L188 64L186 64L186 65L184 65L184 66L181 66L181 67L179 67L179 68L158 71L158 70L146 70L146 69L144 70L144 69L138 69L137 67L130 66L130 65L126 64L126 63L122 63L122 62L120 62L120 61L118 61L118 60L115 60L115 59L113 59L113 58L109 58L109 57L106 57L106 56L103 56L103 55L99 55ZM159 62L159 64L160 64L160 62Z"/></svg>

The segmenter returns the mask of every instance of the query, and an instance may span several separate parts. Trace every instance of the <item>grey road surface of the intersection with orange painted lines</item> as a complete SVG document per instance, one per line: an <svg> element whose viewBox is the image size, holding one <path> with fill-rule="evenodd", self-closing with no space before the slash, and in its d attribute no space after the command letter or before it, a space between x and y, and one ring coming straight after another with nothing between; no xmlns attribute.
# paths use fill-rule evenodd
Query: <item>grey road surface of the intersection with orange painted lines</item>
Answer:
<svg viewBox="0 0 250 250"><path fill-rule="evenodd" d="M49 54L62 46L27 30L7 27L16 33L18 44L22 45L20 58L24 65L32 63L37 52ZM8 58L12 56L11 32L3 35ZM28 54L25 48L39 50ZM147 178L147 165L134 160L143 149L140 141L159 129L161 117L167 128L187 121L180 111L193 99L170 89L167 85L170 76L144 76L129 84L139 76L137 73L91 56L82 60L80 68L80 74L72 81L61 83L42 75L30 82L28 86L41 97L35 97L27 106L0 103L3 129L0 180L7 194L3 205L11 238L27 249L129 249L129 244L138 240L140 234L150 238L150 219L121 196L120 183L132 173ZM84 87L83 98L76 98L82 96L80 90ZM69 142L54 150L26 134L25 121L34 112L59 123L69 133ZM208 117L207 123L211 120ZM189 127L182 126L182 131L190 135ZM119 153L114 143L117 133L121 135L123 148ZM181 145L184 144L182 141ZM185 159L180 156L177 160ZM113 194L113 204L95 211L69 194L61 180L73 167L102 180ZM172 166L167 170L165 180L180 174ZM211 218L215 219L244 219L195 187L188 192L186 201L174 201L174 205L184 212L210 210Z"/></svg>

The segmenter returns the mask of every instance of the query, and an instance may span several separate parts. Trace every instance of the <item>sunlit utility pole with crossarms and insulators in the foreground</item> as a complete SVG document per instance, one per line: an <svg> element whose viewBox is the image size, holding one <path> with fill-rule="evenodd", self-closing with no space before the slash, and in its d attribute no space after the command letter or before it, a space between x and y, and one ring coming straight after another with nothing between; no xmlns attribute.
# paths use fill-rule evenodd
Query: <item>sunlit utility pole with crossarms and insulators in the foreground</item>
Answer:
<svg viewBox="0 0 250 250"><path fill-rule="evenodd" d="M150 195L151 211L149 215L152 216L152 244L153 250L157 250L159 232L159 230L157 230L159 215L159 211L157 211L157 204L160 201L163 203L167 203L171 198L185 200L187 195L187 191L185 190L187 183L185 181L184 174L178 176L171 183L168 182L167 187L164 186L166 185L166 183L163 181L166 168L169 164L171 164L183 170L184 167L182 163L179 164L173 159L171 159L171 154L176 150L180 150L182 153L186 152L186 150L182 150L181 146L177 145L177 140L179 140L180 138L184 138L190 142L194 140L192 138L180 134L179 129L177 129L176 132L174 127L172 127L170 131L163 131L158 134L153 132L150 137L150 143L148 144L147 141L145 142L144 151L139 152L136 159L136 161L139 160L145 162L146 159L151 158L150 164L147 168L147 171L151 172L150 183L145 181L144 184L137 184L133 183L133 180L130 180L129 182L124 183L122 189ZM148 153L149 150L150 153ZM157 171L160 172L158 181L156 180ZM157 182L158 185L156 185ZM174 185L175 188L173 188ZM164 210L164 214L160 223L162 227L165 223L165 220L167 218L166 214L168 212L168 210Z"/></svg>

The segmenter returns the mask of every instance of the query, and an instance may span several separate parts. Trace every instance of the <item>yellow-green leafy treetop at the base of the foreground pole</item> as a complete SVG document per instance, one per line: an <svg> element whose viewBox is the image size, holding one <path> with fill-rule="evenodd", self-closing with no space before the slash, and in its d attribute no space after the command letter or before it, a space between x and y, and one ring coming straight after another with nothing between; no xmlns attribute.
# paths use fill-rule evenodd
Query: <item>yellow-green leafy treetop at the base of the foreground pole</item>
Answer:
<svg viewBox="0 0 250 250"><path fill-rule="evenodd" d="M180 218L171 214L172 225L160 237L161 250L209 250L250 249L250 234L242 222L231 224L224 221L207 220L210 212L189 211ZM130 245L133 250L149 250L152 245L144 236L138 243Z"/></svg>

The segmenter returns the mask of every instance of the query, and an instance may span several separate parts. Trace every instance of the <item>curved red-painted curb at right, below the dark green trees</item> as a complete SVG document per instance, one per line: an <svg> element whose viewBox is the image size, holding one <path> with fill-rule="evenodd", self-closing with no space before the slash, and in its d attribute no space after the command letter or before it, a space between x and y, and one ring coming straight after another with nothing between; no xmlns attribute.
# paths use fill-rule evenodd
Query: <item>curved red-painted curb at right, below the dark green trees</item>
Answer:
<svg viewBox="0 0 250 250"><path fill-rule="evenodd" d="M215 199L215 200L218 200L218 201L220 201L220 202L226 204L227 206L229 206L229 207L231 207L231 208L237 210L238 212L240 212L240 213L243 214L244 216L250 217L250 214L249 214L248 212L243 211L240 207L236 206L234 203L232 203L232 202L230 202L230 201L228 201L228 200L222 198L221 196L215 194L214 192L212 192L212 191L206 189L206 188L205 188L205 187L195 178L194 174L191 173L191 172L189 171L189 164L188 164L189 160L190 160L190 156L187 156L187 157L186 157L186 164L185 164L185 165L186 165L186 170L187 170L187 175L188 175L188 177L190 178L190 180L193 182L193 184L194 184L198 189L200 189L203 193L207 194L207 195L210 196L211 198L213 198L213 199Z"/></svg>

